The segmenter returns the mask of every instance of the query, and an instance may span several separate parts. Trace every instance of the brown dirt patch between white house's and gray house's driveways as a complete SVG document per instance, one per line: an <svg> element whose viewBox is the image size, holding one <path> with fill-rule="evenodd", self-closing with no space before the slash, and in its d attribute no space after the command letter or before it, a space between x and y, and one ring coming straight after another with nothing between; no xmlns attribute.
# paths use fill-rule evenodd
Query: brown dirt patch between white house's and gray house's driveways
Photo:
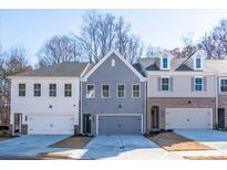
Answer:
<svg viewBox="0 0 227 170"><path fill-rule="evenodd" d="M91 139L92 137L87 136L72 136L61 141L58 141L49 147L82 149L91 141Z"/></svg>

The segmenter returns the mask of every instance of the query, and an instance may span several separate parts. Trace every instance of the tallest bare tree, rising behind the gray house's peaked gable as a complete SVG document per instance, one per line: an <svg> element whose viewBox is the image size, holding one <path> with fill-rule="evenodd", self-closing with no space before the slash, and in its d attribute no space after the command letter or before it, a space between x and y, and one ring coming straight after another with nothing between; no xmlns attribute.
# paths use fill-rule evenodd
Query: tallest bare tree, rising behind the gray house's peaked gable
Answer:
<svg viewBox="0 0 227 170"><path fill-rule="evenodd" d="M131 33L131 25L122 17L87 11L83 17L81 35L74 35L83 54L90 62L97 63L109 51L116 49L131 62L141 57L143 44Z"/></svg>

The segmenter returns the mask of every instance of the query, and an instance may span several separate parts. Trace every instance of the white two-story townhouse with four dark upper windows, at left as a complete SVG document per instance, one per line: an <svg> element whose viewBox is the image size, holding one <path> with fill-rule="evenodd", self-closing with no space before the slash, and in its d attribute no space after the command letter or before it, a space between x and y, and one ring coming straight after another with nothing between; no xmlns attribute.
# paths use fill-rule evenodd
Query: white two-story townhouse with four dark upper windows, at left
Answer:
<svg viewBox="0 0 227 170"><path fill-rule="evenodd" d="M10 76L12 134L79 132L80 78L89 63L62 63Z"/></svg>

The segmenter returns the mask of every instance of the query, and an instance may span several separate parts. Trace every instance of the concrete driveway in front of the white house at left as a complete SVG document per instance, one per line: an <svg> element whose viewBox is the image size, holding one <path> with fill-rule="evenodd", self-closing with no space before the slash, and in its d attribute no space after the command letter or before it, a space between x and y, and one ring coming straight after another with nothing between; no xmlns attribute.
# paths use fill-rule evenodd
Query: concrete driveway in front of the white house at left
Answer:
<svg viewBox="0 0 227 170"><path fill-rule="evenodd" d="M62 151L65 149L48 148L51 144L69 136L58 135L29 135L0 141L0 157L32 158L45 151Z"/></svg>

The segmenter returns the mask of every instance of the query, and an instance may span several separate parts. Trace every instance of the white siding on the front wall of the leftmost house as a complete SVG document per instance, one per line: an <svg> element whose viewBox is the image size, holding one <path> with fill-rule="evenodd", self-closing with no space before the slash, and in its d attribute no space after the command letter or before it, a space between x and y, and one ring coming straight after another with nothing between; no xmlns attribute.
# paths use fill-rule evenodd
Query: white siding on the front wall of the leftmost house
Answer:
<svg viewBox="0 0 227 170"><path fill-rule="evenodd" d="M25 83L25 97L19 97L18 85ZM41 97L33 96L33 84L41 84ZM49 96L49 84L56 84L56 97ZM64 84L72 84L72 97L64 97ZM74 115L74 124L79 124L80 81L78 77L44 77L11 79L11 124L14 113L25 115ZM49 106L52 105L52 108Z"/></svg>

